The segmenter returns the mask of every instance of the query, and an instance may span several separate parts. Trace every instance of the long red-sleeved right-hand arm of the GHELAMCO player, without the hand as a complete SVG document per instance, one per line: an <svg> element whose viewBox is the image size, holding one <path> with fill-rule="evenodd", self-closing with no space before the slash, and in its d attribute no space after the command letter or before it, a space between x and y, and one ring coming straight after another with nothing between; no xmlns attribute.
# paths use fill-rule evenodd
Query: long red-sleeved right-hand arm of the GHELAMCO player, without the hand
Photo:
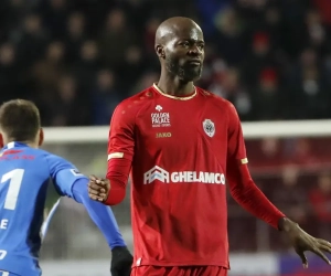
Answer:
<svg viewBox="0 0 331 276"><path fill-rule="evenodd" d="M248 212L278 229L285 215L264 195L250 177L242 126L234 106L228 112L227 142L226 178L232 197Z"/></svg>

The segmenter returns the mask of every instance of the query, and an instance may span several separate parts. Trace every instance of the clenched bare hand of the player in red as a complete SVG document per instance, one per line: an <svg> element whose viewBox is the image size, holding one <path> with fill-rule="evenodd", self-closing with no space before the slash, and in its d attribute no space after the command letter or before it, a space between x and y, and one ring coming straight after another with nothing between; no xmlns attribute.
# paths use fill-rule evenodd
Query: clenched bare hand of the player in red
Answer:
<svg viewBox="0 0 331 276"><path fill-rule="evenodd" d="M108 179L89 177L88 197L95 201L104 202L108 198L110 191L110 182Z"/></svg>

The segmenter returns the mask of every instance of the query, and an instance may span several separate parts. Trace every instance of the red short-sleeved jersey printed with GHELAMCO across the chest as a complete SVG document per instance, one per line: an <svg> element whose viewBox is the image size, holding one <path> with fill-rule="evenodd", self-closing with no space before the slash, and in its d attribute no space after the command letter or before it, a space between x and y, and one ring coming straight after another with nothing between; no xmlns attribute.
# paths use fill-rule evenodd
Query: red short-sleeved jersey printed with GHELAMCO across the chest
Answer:
<svg viewBox="0 0 331 276"><path fill-rule="evenodd" d="M134 266L228 268L225 179L231 166L247 163L229 102L199 87L174 97L153 85L116 108L113 158L131 162Z"/></svg>

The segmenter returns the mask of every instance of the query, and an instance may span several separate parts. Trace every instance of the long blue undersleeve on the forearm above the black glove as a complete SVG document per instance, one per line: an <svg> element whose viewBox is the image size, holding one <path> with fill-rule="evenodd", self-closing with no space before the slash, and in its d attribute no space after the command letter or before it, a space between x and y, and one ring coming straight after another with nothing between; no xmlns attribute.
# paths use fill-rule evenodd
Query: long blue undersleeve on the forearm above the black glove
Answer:
<svg viewBox="0 0 331 276"><path fill-rule="evenodd" d="M115 246L126 246L111 209L88 198L87 183L88 180L79 179L73 184L73 199L84 204L90 219L102 231L111 250Z"/></svg>

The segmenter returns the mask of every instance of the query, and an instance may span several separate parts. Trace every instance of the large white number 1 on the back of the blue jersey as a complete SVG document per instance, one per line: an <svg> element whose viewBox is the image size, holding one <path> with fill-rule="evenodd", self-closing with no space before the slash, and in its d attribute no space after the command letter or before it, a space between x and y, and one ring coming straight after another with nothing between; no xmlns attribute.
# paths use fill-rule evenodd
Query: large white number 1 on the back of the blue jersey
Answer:
<svg viewBox="0 0 331 276"><path fill-rule="evenodd" d="M24 174L23 169L15 169L2 176L1 183L4 183L6 181L10 180L8 192L4 200L4 206L3 206L4 209L15 210L23 174Z"/></svg>

